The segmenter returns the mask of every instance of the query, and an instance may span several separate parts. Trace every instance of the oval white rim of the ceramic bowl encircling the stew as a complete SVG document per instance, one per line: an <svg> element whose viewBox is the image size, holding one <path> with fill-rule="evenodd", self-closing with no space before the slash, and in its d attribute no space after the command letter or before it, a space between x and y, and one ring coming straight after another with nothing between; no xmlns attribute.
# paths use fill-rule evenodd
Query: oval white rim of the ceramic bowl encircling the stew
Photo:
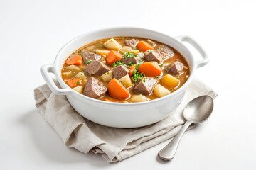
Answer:
<svg viewBox="0 0 256 170"><path fill-rule="evenodd" d="M150 31L151 33L154 33L154 34L166 36L167 38L170 38L170 39L174 40L179 45L182 45L185 48L185 50L188 52L188 55L191 55L191 60L192 60L191 64L194 67L194 69L191 69L191 66L189 65L190 75L189 75L187 81L180 88L178 88L176 91L174 91L171 94L168 94L168 95L166 95L164 97L161 97L161 98L156 98L154 100L136 102L136 103L117 103L117 102L102 101L102 100L99 100L99 99L96 99L96 98L90 98L88 96L85 96L83 94L78 93L77 91L71 89L70 86L65 84L63 79L60 77L60 70L58 70L57 68L58 68L58 62L60 60L59 58L60 58L63 50L65 50L65 48L68 47L68 45L71 45L73 42L75 42L75 40L78 40L81 37L84 37L86 35L90 35L90 34L93 34L93 33L99 33L99 32L110 31L110 30L114 31L114 30L127 30L127 29L136 29L136 30L140 30L140 31L143 31L143 30L144 31ZM141 38L144 38L144 36L141 36ZM159 42L161 42L161 41L159 41ZM185 59L186 59L186 57L185 57ZM171 98L172 96L176 96L176 94L180 93L180 91L183 91L183 89L185 89L186 86L188 86L188 84L191 82L193 74L196 70L195 59L194 59L193 55L191 54L191 51L188 50L188 48L186 47L186 45L183 45L182 42L178 41L176 38L171 37L170 35L160 33L156 30L151 30L151 29L147 29L147 28L139 28L139 27L107 27L107 28L101 28L101 29L97 29L97 30L90 30L90 31L87 31L85 33L82 33L82 34L76 36L75 38L73 38L72 40L68 41L67 43L65 43L65 45L63 45L63 47L60 48L60 50L58 51L58 53L55 57L55 60L53 62L53 66L54 66L54 69L55 69L55 73L57 74L57 75L55 75L55 77L57 78L58 82L60 83L61 86L65 86L65 89L70 89L70 93L75 94L75 95L79 96L80 98L84 98L84 99L89 100L89 101L102 103L102 104L110 104L110 105L113 105L113 106L137 106L137 105L141 106L141 105L147 105L147 104L150 104L150 103L161 102L161 101L164 101L166 98ZM70 94L66 94L66 95L70 95Z"/></svg>

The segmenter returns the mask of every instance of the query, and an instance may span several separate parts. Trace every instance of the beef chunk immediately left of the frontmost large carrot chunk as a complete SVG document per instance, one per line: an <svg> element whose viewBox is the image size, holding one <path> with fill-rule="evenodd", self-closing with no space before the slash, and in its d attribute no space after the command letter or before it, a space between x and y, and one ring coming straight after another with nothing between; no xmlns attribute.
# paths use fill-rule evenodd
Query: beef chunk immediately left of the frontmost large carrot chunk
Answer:
<svg viewBox="0 0 256 170"><path fill-rule="evenodd" d="M94 77L90 77L85 84L83 94L91 98L99 98L104 96L107 92L107 87Z"/></svg>

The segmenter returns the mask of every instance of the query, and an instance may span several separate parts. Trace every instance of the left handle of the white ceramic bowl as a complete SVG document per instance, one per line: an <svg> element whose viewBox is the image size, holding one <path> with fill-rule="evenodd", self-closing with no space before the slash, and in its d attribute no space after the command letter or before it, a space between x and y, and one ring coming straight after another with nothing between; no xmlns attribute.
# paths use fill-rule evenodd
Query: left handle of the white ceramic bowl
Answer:
<svg viewBox="0 0 256 170"><path fill-rule="evenodd" d="M60 89L54 83L53 79L50 77L49 72L55 74L55 69L52 64L43 65L40 69L40 72L43 76L43 79L46 81L46 84L49 86L50 90L57 95L66 95L70 93L70 89Z"/></svg>

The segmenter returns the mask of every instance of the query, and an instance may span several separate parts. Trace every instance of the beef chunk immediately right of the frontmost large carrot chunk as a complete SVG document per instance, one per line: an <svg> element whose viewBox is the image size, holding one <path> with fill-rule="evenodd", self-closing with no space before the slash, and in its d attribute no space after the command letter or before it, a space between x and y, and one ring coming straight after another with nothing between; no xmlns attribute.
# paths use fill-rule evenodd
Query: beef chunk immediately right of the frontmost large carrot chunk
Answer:
<svg viewBox="0 0 256 170"><path fill-rule="evenodd" d="M151 91L154 89L154 85L156 84L156 82L157 80L154 78L144 78L141 81L139 81L139 84L137 84L134 87L134 93L143 94L147 96L151 94Z"/></svg>

